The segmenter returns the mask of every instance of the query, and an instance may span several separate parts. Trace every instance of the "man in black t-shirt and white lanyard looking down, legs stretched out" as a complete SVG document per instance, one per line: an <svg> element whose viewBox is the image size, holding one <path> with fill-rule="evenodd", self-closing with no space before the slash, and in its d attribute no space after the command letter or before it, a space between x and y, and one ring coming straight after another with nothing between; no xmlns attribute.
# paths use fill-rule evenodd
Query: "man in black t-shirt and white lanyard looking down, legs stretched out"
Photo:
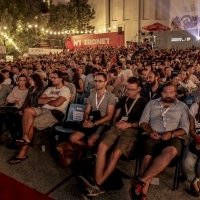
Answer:
<svg viewBox="0 0 200 200"><path fill-rule="evenodd" d="M112 174L121 155L129 157L135 148L140 116L147 101L140 97L141 87L137 78L129 78L126 89L127 96L122 97L116 106L113 126L104 134L98 146L94 184L90 184L82 176L79 177L83 184L89 188L86 196L96 196L103 193L99 186ZM107 161L107 152L113 146L114 150Z"/></svg>

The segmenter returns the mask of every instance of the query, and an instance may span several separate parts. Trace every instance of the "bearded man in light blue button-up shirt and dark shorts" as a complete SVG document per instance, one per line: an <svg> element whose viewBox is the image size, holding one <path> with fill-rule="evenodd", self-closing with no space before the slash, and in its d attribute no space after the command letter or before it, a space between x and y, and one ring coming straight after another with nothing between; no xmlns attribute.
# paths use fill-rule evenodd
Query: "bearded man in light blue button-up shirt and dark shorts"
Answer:
<svg viewBox="0 0 200 200"><path fill-rule="evenodd" d="M176 86L168 82L161 98L150 101L140 119L142 164L130 189L132 199L145 200L151 179L162 172L183 147L181 137L189 132L189 110L176 99Z"/></svg>

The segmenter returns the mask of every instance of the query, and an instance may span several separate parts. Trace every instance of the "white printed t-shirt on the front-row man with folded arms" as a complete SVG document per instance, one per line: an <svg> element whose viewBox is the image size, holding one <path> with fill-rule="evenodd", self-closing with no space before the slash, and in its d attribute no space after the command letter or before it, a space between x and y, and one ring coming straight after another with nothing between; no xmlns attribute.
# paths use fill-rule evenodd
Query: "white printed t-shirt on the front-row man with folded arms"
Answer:
<svg viewBox="0 0 200 200"><path fill-rule="evenodd" d="M62 96L62 97L66 98L66 101L61 106L58 106L58 107L54 107L54 106L50 106L48 104L45 104L45 105L43 105L43 108L47 108L49 110L56 109L56 110L62 111L63 113L66 112L66 108L68 106L68 103L69 103L69 100L70 100L70 97L71 97L71 93L70 93L69 88L67 88L66 86L63 86L60 89L56 89L55 87L48 87L45 90L44 94L46 94L47 97L60 97L60 96Z"/></svg>

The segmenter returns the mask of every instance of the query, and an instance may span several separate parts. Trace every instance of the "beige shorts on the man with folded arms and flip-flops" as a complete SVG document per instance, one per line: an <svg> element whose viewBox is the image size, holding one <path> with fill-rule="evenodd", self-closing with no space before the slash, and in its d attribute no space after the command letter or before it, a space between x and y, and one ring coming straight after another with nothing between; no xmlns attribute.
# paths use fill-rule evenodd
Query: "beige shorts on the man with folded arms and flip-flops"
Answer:
<svg viewBox="0 0 200 200"><path fill-rule="evenodd" d="M36 112L33 127L37 130L44 130L45 128L52 127L58 123L58 120L51 114L51 111L46 108L33 108Z"/></svg>

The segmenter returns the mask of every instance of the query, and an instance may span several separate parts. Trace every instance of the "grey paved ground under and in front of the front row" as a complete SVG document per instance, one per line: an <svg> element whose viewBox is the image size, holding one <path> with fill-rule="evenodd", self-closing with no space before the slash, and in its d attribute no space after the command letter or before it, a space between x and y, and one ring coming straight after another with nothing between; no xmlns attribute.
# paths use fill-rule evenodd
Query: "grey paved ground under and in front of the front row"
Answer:
<svg viewBox="0 0 200 200"><path fill-rule="evenodd" d="M8 140L8 134L4 134L5 142ZM46 144L46 151L42 152L40 144ZM10 150L5 145L0 146L0 171L14 179L36 189L41 193L48 193L55 200L79 200L79 186L77 184L77 175L88 173L90 168L79 170L77 174L70 168L61 168L56 163L56 155L50 151L50 145L44 134L37 133L34 146L29 148L29 158L17 165L8 164L8 160L17 152ZM128 162L120 160L118 168L127 175L132 175L134 171L134 161ZM81 167L81 165L79 165ZM167 168L165 172L159 175L159 185L151 185L149 200L194 200L188 194L188 182L180 183L179 190L172 191L173 175L175 168ZM64 181L63 181L64 180ZM94 198L97 200L129 200L129 179L122 178L124 186L120 190L108 190L105 194ZM63 181L63 183L62 183ZM59 183L57 189L53 189ZM3 184L3 183L1 183ZM18 200L18 199L16 199Z"/></svg>

